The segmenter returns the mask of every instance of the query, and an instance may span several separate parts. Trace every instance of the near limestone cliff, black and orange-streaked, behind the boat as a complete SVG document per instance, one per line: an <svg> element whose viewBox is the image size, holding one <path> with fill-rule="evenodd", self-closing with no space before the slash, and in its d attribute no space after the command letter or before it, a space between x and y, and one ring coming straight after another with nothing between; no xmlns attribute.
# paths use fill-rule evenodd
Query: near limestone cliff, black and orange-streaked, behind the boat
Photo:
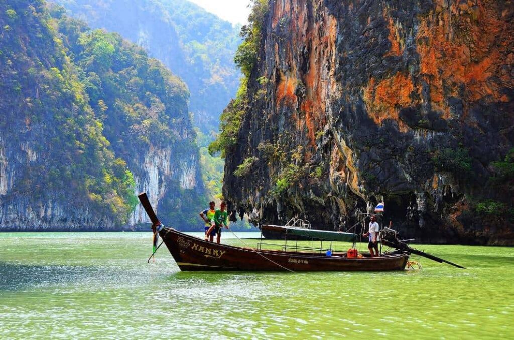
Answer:
<svg viewBox="0 0 514 340"><path fill-rule="evenodd" d="M512 1L271 0L232 210L347 229L383 200L418 241L513 243L513 18Z"/></svg>

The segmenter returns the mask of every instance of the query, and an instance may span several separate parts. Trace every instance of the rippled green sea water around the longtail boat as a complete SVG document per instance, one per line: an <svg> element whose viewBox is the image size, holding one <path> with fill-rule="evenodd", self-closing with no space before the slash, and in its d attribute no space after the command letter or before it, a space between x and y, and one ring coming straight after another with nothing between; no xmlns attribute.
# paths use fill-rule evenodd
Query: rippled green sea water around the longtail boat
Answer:
<svg viewBox="0 0 514 340"><path fill-rule="evenodd" d="M0 338L514 337L514 248L417 246L465 270L187 273L164 246L147 264L150 239L0 233Z"/></svg>

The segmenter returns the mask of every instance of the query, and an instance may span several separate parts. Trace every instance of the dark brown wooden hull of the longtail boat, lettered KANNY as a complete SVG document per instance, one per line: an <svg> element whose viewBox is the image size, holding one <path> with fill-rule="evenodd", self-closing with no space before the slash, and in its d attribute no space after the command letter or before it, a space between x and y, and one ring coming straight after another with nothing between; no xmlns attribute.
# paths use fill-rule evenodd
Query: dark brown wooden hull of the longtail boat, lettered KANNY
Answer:
<svg viewBox="0 0 514 340"><path fill-rule="evenodd" d="M409 259L407 254L347 258L232 247L171 228L159 235L182 271L392 271L405 269Z"/></svg>

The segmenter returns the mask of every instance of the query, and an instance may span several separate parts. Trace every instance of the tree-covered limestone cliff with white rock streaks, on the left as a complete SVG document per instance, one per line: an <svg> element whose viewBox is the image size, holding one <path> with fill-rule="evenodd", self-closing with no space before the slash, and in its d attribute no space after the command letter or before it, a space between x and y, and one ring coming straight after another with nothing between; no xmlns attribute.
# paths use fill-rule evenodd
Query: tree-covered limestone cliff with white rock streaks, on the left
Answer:
<svg viewBox="0 0 514 340"><path fill-rule="evenodd" d="M185 84L119 34L0 3L0 231L131 229L205 206ZM148 225L145 226L148 228Z"/></svg>

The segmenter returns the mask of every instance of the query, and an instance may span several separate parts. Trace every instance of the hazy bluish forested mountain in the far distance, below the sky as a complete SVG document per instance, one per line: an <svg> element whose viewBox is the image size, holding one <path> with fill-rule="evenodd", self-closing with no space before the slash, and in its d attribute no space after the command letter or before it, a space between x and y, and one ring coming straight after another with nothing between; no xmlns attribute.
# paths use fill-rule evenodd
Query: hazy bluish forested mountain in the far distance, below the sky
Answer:
<svg viewBox="0 0 514 340"><path fill-rule="evenodd" d="M195 126L217 130L219 114L237 90L233 55L239 27L187 0L56 0L93 28L118 32L177 74L191 92Z"/></svg>

